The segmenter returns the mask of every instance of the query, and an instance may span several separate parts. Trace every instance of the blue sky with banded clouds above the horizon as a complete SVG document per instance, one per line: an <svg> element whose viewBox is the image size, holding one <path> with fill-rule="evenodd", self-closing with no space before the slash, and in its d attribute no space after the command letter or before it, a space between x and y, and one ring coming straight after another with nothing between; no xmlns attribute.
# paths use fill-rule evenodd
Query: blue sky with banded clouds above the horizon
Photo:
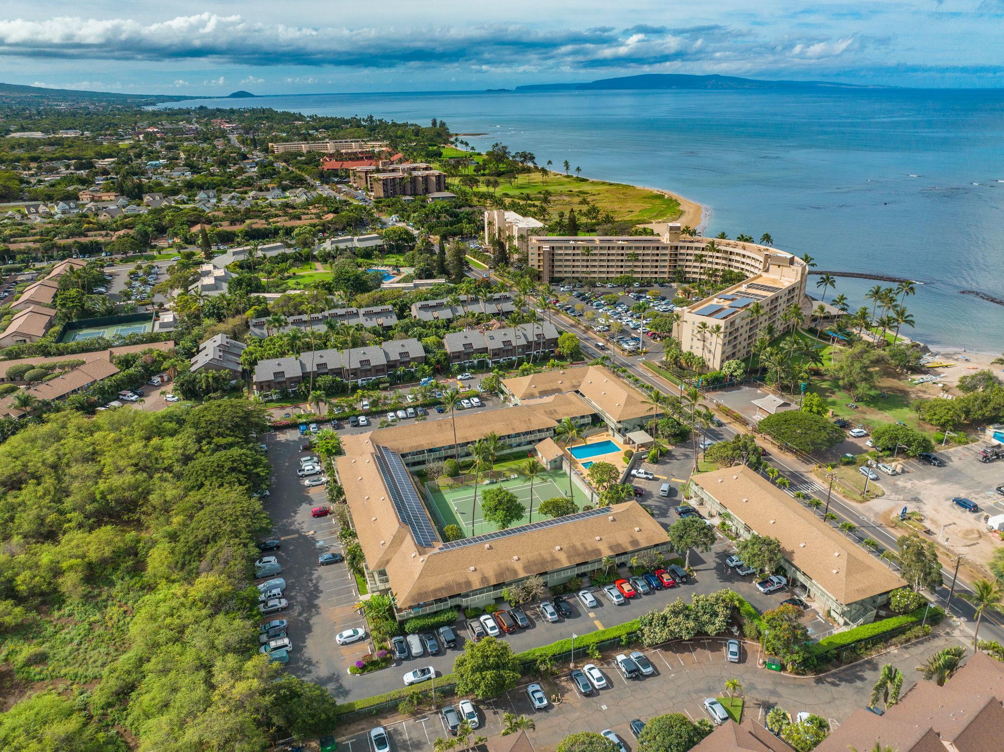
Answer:
<svg viewBox="0 0 1004 752"><path fill-rule="evenodd" d="M477 90L638 73L1004 87L1004 0L16 6L0 9L0 81L57 88Z"/></svg>

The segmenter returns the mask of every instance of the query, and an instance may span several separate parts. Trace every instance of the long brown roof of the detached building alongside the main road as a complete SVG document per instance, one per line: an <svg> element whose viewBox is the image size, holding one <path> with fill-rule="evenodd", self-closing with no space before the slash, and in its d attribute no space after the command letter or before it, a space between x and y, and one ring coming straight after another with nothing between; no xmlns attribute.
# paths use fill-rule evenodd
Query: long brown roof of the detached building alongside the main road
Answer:
<svg viewBox="0 0 1004 752"><path fill-rule="evenodd" d="M746 466L702 473L691 482L754 532L777 538L785 558L840 603L906 584L843 533Z"/></svg>

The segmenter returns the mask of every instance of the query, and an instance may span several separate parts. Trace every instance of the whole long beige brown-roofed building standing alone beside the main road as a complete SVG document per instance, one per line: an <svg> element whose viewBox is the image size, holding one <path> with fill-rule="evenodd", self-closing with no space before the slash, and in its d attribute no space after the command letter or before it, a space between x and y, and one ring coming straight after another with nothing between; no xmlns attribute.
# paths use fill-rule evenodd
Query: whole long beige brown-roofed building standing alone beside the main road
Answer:
<svg viewBox="0 0 1004 752"><path fill-rule="evenodd" d="M840 624L874 620L889 593L907 583L882 561L822 521L751 468L722 468L691 478L706 516L728 512L740 537L776 538L790 585Z"/></svg>

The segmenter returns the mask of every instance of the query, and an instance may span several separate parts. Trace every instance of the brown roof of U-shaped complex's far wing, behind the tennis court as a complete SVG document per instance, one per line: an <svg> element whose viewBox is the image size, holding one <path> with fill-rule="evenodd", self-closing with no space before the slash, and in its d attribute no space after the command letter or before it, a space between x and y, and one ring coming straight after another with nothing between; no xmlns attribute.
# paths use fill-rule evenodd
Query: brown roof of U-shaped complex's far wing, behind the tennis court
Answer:
<svg viewBox="0 0 1004 752"><path fill-rule="evenodd" d="M499 436L551 428L565 417L592 415L593 409L575 395L555 395L532 405L517 405L506 410L484 413L455 414L457 442L464 444L484 438L495 432ZM381 429L378 443L395 452L414 452L419 449L453 445L453 426L450 419L423 423L400 424Z"/></svg>

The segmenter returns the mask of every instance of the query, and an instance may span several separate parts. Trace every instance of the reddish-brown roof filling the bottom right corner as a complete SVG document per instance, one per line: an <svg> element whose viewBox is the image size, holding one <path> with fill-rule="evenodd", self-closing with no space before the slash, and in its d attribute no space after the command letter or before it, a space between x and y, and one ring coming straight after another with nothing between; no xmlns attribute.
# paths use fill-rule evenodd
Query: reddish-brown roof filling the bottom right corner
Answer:
<svg viewBox="0 0 1004 752"><path fill-rule="evenodd" d="M870 749L875 740L899 752L999 750L1004 739L1002 688L1004 664L977 653L944 687L919 682L881 717L856 711L816 750Z"/></svg>

